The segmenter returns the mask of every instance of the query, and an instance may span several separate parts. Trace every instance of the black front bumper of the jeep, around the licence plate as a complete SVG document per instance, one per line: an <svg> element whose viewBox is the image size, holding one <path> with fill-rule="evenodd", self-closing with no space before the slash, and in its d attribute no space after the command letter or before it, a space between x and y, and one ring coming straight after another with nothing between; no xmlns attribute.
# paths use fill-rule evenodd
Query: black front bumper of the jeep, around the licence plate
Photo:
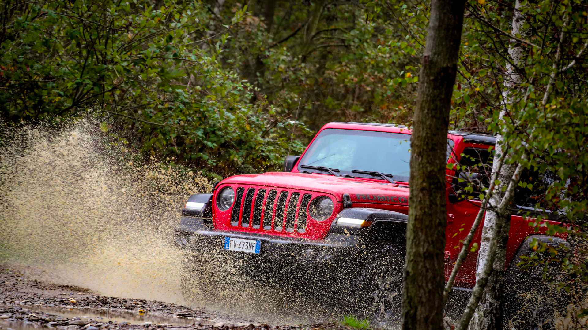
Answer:
<svg viewBox="0 0 588 330"><path fill-rule="evenodd" d="M189 250L206 250L233 257L257 260L279 258L315 264L333 264L350 262L363 255L365 245L359 235L329 234L324 240L308 240L304 238L280 237L266 234L241 233L238 231L216 230L206 224L206 220L182 215L175 228L175 242ZM225 237L243 238L261 241L259 254L224 250Z"/></svg>

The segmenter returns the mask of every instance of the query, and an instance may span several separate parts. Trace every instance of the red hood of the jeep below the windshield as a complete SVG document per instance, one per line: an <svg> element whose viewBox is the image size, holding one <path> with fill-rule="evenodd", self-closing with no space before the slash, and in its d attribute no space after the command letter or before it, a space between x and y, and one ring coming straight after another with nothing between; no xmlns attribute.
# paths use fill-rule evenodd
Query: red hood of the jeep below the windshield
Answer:
<svg viewBox="0 0 588 330"><path fill-rule="evenodd" d="M268 172L228 177L221 184L246 184L311 190L332 194L342 201L349 194L353 202L379 204L408 204L409 188L382 181L335 177L328 174Z"/></svg>

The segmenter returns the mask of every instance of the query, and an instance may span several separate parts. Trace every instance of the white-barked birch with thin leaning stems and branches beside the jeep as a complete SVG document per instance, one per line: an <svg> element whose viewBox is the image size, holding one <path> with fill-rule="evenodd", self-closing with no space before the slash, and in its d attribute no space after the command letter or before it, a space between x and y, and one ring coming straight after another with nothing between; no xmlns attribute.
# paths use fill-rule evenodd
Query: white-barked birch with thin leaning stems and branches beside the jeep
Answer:
<svg viewBox="0 0 588 330"><path fill-rule="evenodd" d="M523 16L519 11L520 8L521 4L517 0L512 23L513 38L516 38L515 36L520 34L520 29L524 23ZM559 38L557 38L556 41L556 55L554 56L553 65L549 74L549 80L544 86L544 93L540 102L543 106L545 106L549 101L549 96L552 92L557 73L561 73L563 70L571 68L576 63L576 60L573 60L569 65L563 66L561 69L559 68L559 63L562 59L562 45L564 43L564 36L566 35L565 32L568 22L569 16L564 15L563 26L560 29ZM520 41L519 38L516 39ZM582 49L580 49L579 53L576 55L576 59L584 53L584 50L586 50L587 47L588 41L584 43ZM527 97L529 97L531 88L527 87L526 92L524 92L523 99L519 99L520 91L517 91L517 89L520 89L522 76L520 76L520 73L516 70L516 67L523 63L524 56L526 55L524 48L522 48L520 45L511 46L509 48L509 55L514 65L507 66L504 83L505 91L502 93L504 106L500 112L500 120L504 120L505 116L508 115L507 106L518 102L522 102L524 105L526 105ZM522 123L513 123L513 127L520 126L520 124ZM529 126L526 127L526 130L527 132L530 132L529 136L532 137L535 132L535 127L533 126L533 123L527 124L529 124ZM506 130L503 132L507 133ZM503 135L504 134L498 134L497 140L503 141ZM503 328L503 315L501 306L502 292L500 290L502 290L504 284L506 241L508 240L508 231L510 229L510 212L508 207L512 203L515 188L519 184L520 175L524 168L524 163L527 162L527 154L530 153L530 150L523 150L523 154L518 162L506 164L504 163L506 156L505 153L507 153L505 146L507 146L507 143L497 144L497 150L493 164L493 181L490 184L489 190L487 191L484 200L482 201L482 208L480 208L480 213L478 214L475 223L472 225L470 234L465 239L465 246L462 248L462 252L458 257L456 265L453 268L452 275L450 276L450 279L447 282L445 288L444 298L446 299L451 290L453 278L455 278L455 274L459 270L460 264L466 257L467 247L469 247L469 243L473 238L473 233L475 232L477 225L479 225L479 220L482 217L482 213L486 211L485 224L482 232L482 244L480 245L479 264L476 272L476 285L473 289L472 297L470 297L470 301L467 304L465 312L460 319L458 326L458 329L460 330L466 330L468 326L470 326L470 329ZM500 183L497 184L495 188L493 185L495 184L494 180L496 180L496 178L499 178ZM501 187L507 188L505 191L503 191L503 188ZM490 206L485 210L485 206L487 204L490 204ZM473 322L470 324L472 317Z"/></svg>

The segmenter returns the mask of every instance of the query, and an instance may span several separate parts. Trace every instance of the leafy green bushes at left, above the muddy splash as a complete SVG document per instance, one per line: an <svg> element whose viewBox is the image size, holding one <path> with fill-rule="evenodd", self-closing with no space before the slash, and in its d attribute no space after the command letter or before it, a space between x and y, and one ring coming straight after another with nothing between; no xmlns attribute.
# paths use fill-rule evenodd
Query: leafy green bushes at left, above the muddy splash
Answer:
<svg viewBox="0 0 588 330"><path fill-rule="evenodd" d="M236 10L209 35L200 2L8 1L0 35L0 107L8 120L91 109L147 155L213 173L278 169L297 125L220 62ZM285 120L288 119L288 120ZM102 128L102 127L101 127ZM302 132L302 133L301 133Z"/></svg>

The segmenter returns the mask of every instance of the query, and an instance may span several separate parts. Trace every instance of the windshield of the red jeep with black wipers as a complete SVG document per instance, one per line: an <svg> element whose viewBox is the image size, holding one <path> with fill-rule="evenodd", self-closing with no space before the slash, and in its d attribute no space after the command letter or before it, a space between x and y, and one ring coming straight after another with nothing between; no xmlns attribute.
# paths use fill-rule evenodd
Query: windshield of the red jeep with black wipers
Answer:
<svg viewBox="0 0 588 330"><path fill-rule="evenodd" d="M300 165L324 166L340 170L342 176L355 177L374 176L352 173L352 170L378 171L392 174L394 180L408 181L409 161L409 134L325 129L298 163L298 170L320 173L319 170L305 169Z"/></svg>

